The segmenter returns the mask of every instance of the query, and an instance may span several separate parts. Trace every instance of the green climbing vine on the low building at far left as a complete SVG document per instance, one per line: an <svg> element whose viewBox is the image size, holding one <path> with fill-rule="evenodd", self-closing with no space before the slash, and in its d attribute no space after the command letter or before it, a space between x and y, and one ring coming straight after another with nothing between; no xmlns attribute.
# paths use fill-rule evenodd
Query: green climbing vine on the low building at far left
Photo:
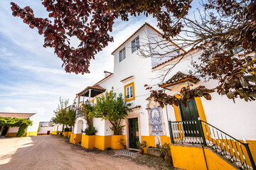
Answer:
<svg viewBox="0 0 256 170"><path fill-rule="evenodd" d="M18 133L16 136L21 137L25 134L26 128L28 128L29 125L32 125L31 120L23 119L23 118L3 118L0 117L0 127L1 126L7 126L7 127L19 127Z"/></svg>

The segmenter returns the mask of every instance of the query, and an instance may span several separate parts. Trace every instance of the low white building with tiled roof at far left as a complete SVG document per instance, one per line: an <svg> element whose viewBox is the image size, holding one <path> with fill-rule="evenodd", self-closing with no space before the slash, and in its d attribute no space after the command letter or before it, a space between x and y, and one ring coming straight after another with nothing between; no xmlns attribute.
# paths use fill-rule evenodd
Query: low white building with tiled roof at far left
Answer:
<svg viewBox="0 0 256 170"><path fill-rule="evenodd" d="M36 113L0 113L0 117L6 118L23 118L32 121L26 129L26 136L36 136L38 131L39 120ZM1 135L8 135L9 137L16 136L18 127L0 127Z"/></svg>

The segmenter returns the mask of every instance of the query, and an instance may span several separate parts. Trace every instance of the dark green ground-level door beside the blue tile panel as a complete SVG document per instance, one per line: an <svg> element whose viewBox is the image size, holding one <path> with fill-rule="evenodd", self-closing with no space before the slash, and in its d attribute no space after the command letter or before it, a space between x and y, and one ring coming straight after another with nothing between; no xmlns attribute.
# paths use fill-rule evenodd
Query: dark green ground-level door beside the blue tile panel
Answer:
<svg viewBox="0 0 256 170"><path fill-rule="evenodd" d="M138 118L131 118L129 119L129 147L137 148L137 141L139 141Z"/></svg>

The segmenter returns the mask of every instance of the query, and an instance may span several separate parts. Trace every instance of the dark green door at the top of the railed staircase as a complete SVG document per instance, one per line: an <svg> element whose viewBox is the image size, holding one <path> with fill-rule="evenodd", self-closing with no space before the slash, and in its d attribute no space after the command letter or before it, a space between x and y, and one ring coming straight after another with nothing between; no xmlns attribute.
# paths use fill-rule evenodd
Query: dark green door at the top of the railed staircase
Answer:
<svg viewBox="0 0 256 170"><path fill-rule="evenodd" d="M179 105L181 111L181 120L198 120L199 115L196 107L196 101L193 99L187 103L187 105L188 106L186 108L182 104ZM183 123L183 130L186 137L199 137L198 123Z"/></svg>

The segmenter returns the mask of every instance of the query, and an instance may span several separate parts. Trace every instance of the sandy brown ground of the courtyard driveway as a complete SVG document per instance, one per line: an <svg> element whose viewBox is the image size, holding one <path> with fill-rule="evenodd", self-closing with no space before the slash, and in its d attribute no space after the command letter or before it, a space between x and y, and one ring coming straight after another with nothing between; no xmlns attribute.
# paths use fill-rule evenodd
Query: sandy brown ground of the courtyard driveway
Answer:
<svg viewBox="0 0 256 170"><path fill-rule="evenodd" d="M149 169L127 159L73 149L62 137L0 138L0 169Z"/></svg>

